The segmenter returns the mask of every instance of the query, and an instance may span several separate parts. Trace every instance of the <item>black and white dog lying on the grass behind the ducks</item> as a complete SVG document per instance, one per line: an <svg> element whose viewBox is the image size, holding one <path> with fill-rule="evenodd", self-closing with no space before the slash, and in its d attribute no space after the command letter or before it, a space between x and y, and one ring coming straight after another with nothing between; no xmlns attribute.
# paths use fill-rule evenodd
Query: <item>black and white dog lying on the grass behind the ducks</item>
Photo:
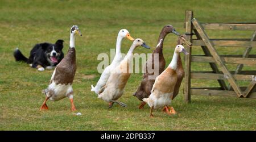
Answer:
<svg viewBox="0 0 256 142"><path fill-rule="evenodd" d="M24 61L30 64L32 68L37 68L39 71L44 69L52 69L63 59L64 53L63 40L57 40L55 44L39 43L30 51L30 57L27 59L19 49L15 49L14 57L16 61Z"/></svg>

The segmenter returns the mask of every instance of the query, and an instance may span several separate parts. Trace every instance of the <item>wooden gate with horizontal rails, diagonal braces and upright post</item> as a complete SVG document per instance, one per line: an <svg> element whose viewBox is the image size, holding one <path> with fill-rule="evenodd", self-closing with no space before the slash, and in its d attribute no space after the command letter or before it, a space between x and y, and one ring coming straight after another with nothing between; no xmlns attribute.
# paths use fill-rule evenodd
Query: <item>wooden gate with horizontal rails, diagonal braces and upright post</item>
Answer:
<svg viewBox="0 0 256 142"><path fill-rule="evenodd" d="M185 28L187 40L192 43L191 47L187 47L189 55L185 56L185 102L191 101L191 95L256 98L256 70L242 70L243 64L256 65L256 55L250 55L251 49L256 47L256 23L200 23L193 18L193 11L186 11ZM250 39L209 39L205 30L250 30L254 34ZM203 56L192 55L194 45L201 46ZM214 46L246 49L243 55L219 55ZM209 62L212 71L191 72L191 62ZM227 63L238 64L237 69L229 71ZM217 80L220 87L191 87L193 78ZM240 87L237 81L250 81L250 84Z"/></svg>

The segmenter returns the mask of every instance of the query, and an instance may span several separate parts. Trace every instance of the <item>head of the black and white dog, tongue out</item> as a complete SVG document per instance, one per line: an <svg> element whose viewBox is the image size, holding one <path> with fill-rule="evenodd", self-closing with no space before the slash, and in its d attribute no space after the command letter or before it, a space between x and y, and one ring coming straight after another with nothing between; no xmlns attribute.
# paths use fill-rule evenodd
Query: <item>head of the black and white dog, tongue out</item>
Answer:
<svg viewBox="0 0 256 142"><path fill-rule="evenodd" d="M43 43L42 49L49 64L54 65L63 59L63 42L64 40L57 40L55 44Z"/></svg>

